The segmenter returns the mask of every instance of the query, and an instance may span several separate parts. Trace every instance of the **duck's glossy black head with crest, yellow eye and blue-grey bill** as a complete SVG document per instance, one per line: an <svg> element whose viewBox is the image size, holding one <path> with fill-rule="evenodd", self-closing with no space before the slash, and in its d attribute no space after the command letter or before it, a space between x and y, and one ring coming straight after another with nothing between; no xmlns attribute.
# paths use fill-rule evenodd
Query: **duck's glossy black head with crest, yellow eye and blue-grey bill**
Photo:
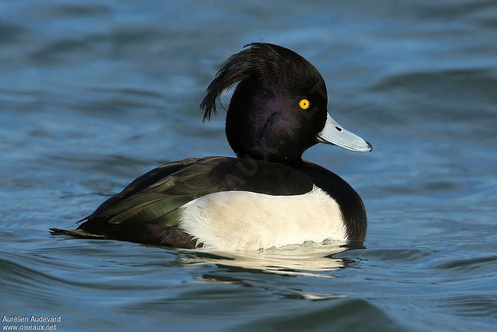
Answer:
<svg viewBox="0 0 497 332"><path fill-rule="evenodd" d="M238 84L226 115L226 136L238 157L298 163L318 142L372 150L328 114L326 85L307 60L278 45L247 46L224 62L200 105L203 120L210 120L221 95Z"/></svg>

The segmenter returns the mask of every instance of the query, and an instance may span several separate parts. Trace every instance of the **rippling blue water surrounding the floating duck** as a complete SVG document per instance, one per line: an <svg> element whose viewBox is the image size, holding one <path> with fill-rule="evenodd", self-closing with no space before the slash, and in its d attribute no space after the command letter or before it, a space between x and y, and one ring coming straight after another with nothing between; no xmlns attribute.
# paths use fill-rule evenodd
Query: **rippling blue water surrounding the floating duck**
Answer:
<svg viewBox="0 0 497 332"><path fill-rule="evenodd" d="M497 323L496 1L0 2L0 316L57 330L489 331ZM362 196L364 246L176 250L52 236L163 163L252 41L322 73L374 151L304 157Z"/></svg>

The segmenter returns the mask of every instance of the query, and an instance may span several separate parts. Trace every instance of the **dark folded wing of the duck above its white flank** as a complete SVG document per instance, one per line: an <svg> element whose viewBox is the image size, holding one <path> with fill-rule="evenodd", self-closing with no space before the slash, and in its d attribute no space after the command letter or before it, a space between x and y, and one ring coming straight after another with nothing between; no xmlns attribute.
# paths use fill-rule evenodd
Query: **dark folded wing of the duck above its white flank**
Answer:
<svg viewBox="0 0 497 332"><path fill-rule="evenodd" d="M171 233L171 227L177 228L179 208L201 196L233 190L301 195L312 186L309 177L282 164L229 157L181 159L131 182L83 219L77 231L157 244L164 229Z"/></svg>

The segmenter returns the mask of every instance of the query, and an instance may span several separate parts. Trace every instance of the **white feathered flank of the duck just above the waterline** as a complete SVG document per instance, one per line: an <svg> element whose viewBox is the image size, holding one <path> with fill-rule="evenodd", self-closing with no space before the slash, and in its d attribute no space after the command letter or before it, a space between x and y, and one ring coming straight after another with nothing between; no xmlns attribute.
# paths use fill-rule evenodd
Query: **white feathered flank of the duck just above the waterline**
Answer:
<svg viewBox="0 0 497 332"><path fill-rule="evenodd" d="M213 193L181 209L179 226L209 249L258 250L346 239L338 204L316 186L295 196Z"/></svg>

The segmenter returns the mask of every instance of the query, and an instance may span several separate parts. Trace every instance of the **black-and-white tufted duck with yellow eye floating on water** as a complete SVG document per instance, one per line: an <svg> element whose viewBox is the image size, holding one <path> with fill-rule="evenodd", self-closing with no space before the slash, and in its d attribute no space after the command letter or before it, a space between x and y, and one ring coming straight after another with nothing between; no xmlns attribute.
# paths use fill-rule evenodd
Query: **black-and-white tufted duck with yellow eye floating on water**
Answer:
<svg viewBox="0 0 497 332"><path fill-rule="evenodd" d="M367 215L359 194L335 173L302 159L317 143L373 149L330 116L319 71L283 46L247 44L208 85L200 104L203 122L217 115L231 88L225 133L236 157L186 158L157 167L76 229L50 232L216 250L364 241Z"/></svg>

